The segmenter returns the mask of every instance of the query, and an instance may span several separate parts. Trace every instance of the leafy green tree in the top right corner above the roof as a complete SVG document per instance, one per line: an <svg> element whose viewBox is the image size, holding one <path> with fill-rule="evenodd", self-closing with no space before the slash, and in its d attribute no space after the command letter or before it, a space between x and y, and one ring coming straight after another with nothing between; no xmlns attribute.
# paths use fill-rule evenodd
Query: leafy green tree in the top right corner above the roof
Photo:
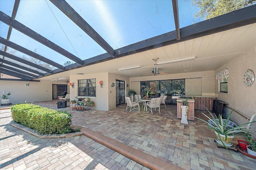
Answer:
<svg viewBox="0 0 256 170"><path fill-rule="evenodd" d="M256 3L256 0L193 0L200 11L194 16L208 20Z"/></svg>

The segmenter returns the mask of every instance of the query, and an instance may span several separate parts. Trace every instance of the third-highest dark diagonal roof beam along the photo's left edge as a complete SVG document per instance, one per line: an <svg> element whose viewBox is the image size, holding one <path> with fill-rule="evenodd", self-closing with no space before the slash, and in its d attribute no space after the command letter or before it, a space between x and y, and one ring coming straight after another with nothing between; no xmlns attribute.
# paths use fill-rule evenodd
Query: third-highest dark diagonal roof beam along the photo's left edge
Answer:
<svg viewBox="0 0 256 170"><path fill-rule="evenodd" d="M50 70L48 68L39 66L38 64L31 63L30 61L24 60L24 59L22 59L20 57L16 57L15 55L12 55L12 54L9 54L9 53L4 53L4 51L2 51L2 50L0 50L0 55L5 56L5 57L7 57L9 59L13 59L13 60L18 61L18 62L23 63L23 64L27 64L27 65L29 65L31 67L34 67L34 68L37 68L37 69L40 69L40 70L52 73L52 70Z"/></svg>

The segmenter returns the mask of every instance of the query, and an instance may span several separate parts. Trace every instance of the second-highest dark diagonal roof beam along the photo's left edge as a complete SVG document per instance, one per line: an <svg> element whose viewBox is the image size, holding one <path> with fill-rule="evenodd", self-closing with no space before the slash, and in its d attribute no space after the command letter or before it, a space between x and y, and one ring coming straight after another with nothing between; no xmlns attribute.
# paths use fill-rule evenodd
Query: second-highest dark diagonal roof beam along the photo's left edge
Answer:
<svg viewBox="0 0 256 170"><path fill-rule="evenodd" d="M4 45L7 45L8 47L11 47L11 48L13 48L13 49L15 49L15 50L18 50L18 51L20 51L20 52L22 52L22 53L24 53L24 54L26 54L26 55L29 55L29 56L31 56L31 57L34 57L35 59L38 59L38 60L40 60L40 61L43 61L44 63L50 64L50 65L52 65L52 66L55 66L55 67L57 67L57 68L60 68L60 69L64 70L64 66L62 66L62 65L60 65L60 64L58 64L58 63L55 63L54 61L49 60L49 59L47 59L47 58L45 58L45 57L43 57L43 56L41 56L41 55L39 55L39 54L36 54L36 53L34 53L33 51L30 51L30 50L28 50L28 49L25 49L24 47L21 47L21 46L18 45L18 44L15 44L15 43L13 43L13 42L11 42L11 41L7 41L7 40L4 39L3 37L0 37L0 43L2 43L2 44L4 44Z"/></svg>

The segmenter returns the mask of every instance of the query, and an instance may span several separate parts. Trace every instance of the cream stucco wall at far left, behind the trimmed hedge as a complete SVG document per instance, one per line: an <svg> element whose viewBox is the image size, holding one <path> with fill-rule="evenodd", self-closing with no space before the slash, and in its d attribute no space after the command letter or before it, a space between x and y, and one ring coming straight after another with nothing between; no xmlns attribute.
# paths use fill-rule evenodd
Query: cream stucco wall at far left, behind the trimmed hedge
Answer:
<svg viewBox="0 0 256 170"><path fill-rule="evenodd" d="M29 86L25 86L28 84ZM10 103L21 104L26 102L39 102L52 100L52 84L56 82L40 81L40 82L27 82L27 81L0 81L0 96L3 91L11 93L9 96ZM59 83L58 84L66 84Z"/></svg>

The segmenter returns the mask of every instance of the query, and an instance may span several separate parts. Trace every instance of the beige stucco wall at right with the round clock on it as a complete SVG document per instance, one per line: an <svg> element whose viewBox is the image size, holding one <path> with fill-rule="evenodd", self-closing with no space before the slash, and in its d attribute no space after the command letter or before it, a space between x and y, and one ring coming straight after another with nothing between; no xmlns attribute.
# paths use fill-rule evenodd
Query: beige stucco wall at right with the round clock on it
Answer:
<svg viewBox="0 0 256 170"><path fill-rule="evenodd" d="M251 69L256 76L256 47L224 64L216 69L215 72L225 68L228 69L228 93L219 92L218 99L228 103L229 107L250 118L256 113L256 82L252 86L245 86L243 75L246 70ZM217 82L216 80L216 84L218 84ZM224 111L225 113L230 113L230 109L225 108ZM232 114L231 119L237 124L248 122L244 117L235 112Z"/></svg>

